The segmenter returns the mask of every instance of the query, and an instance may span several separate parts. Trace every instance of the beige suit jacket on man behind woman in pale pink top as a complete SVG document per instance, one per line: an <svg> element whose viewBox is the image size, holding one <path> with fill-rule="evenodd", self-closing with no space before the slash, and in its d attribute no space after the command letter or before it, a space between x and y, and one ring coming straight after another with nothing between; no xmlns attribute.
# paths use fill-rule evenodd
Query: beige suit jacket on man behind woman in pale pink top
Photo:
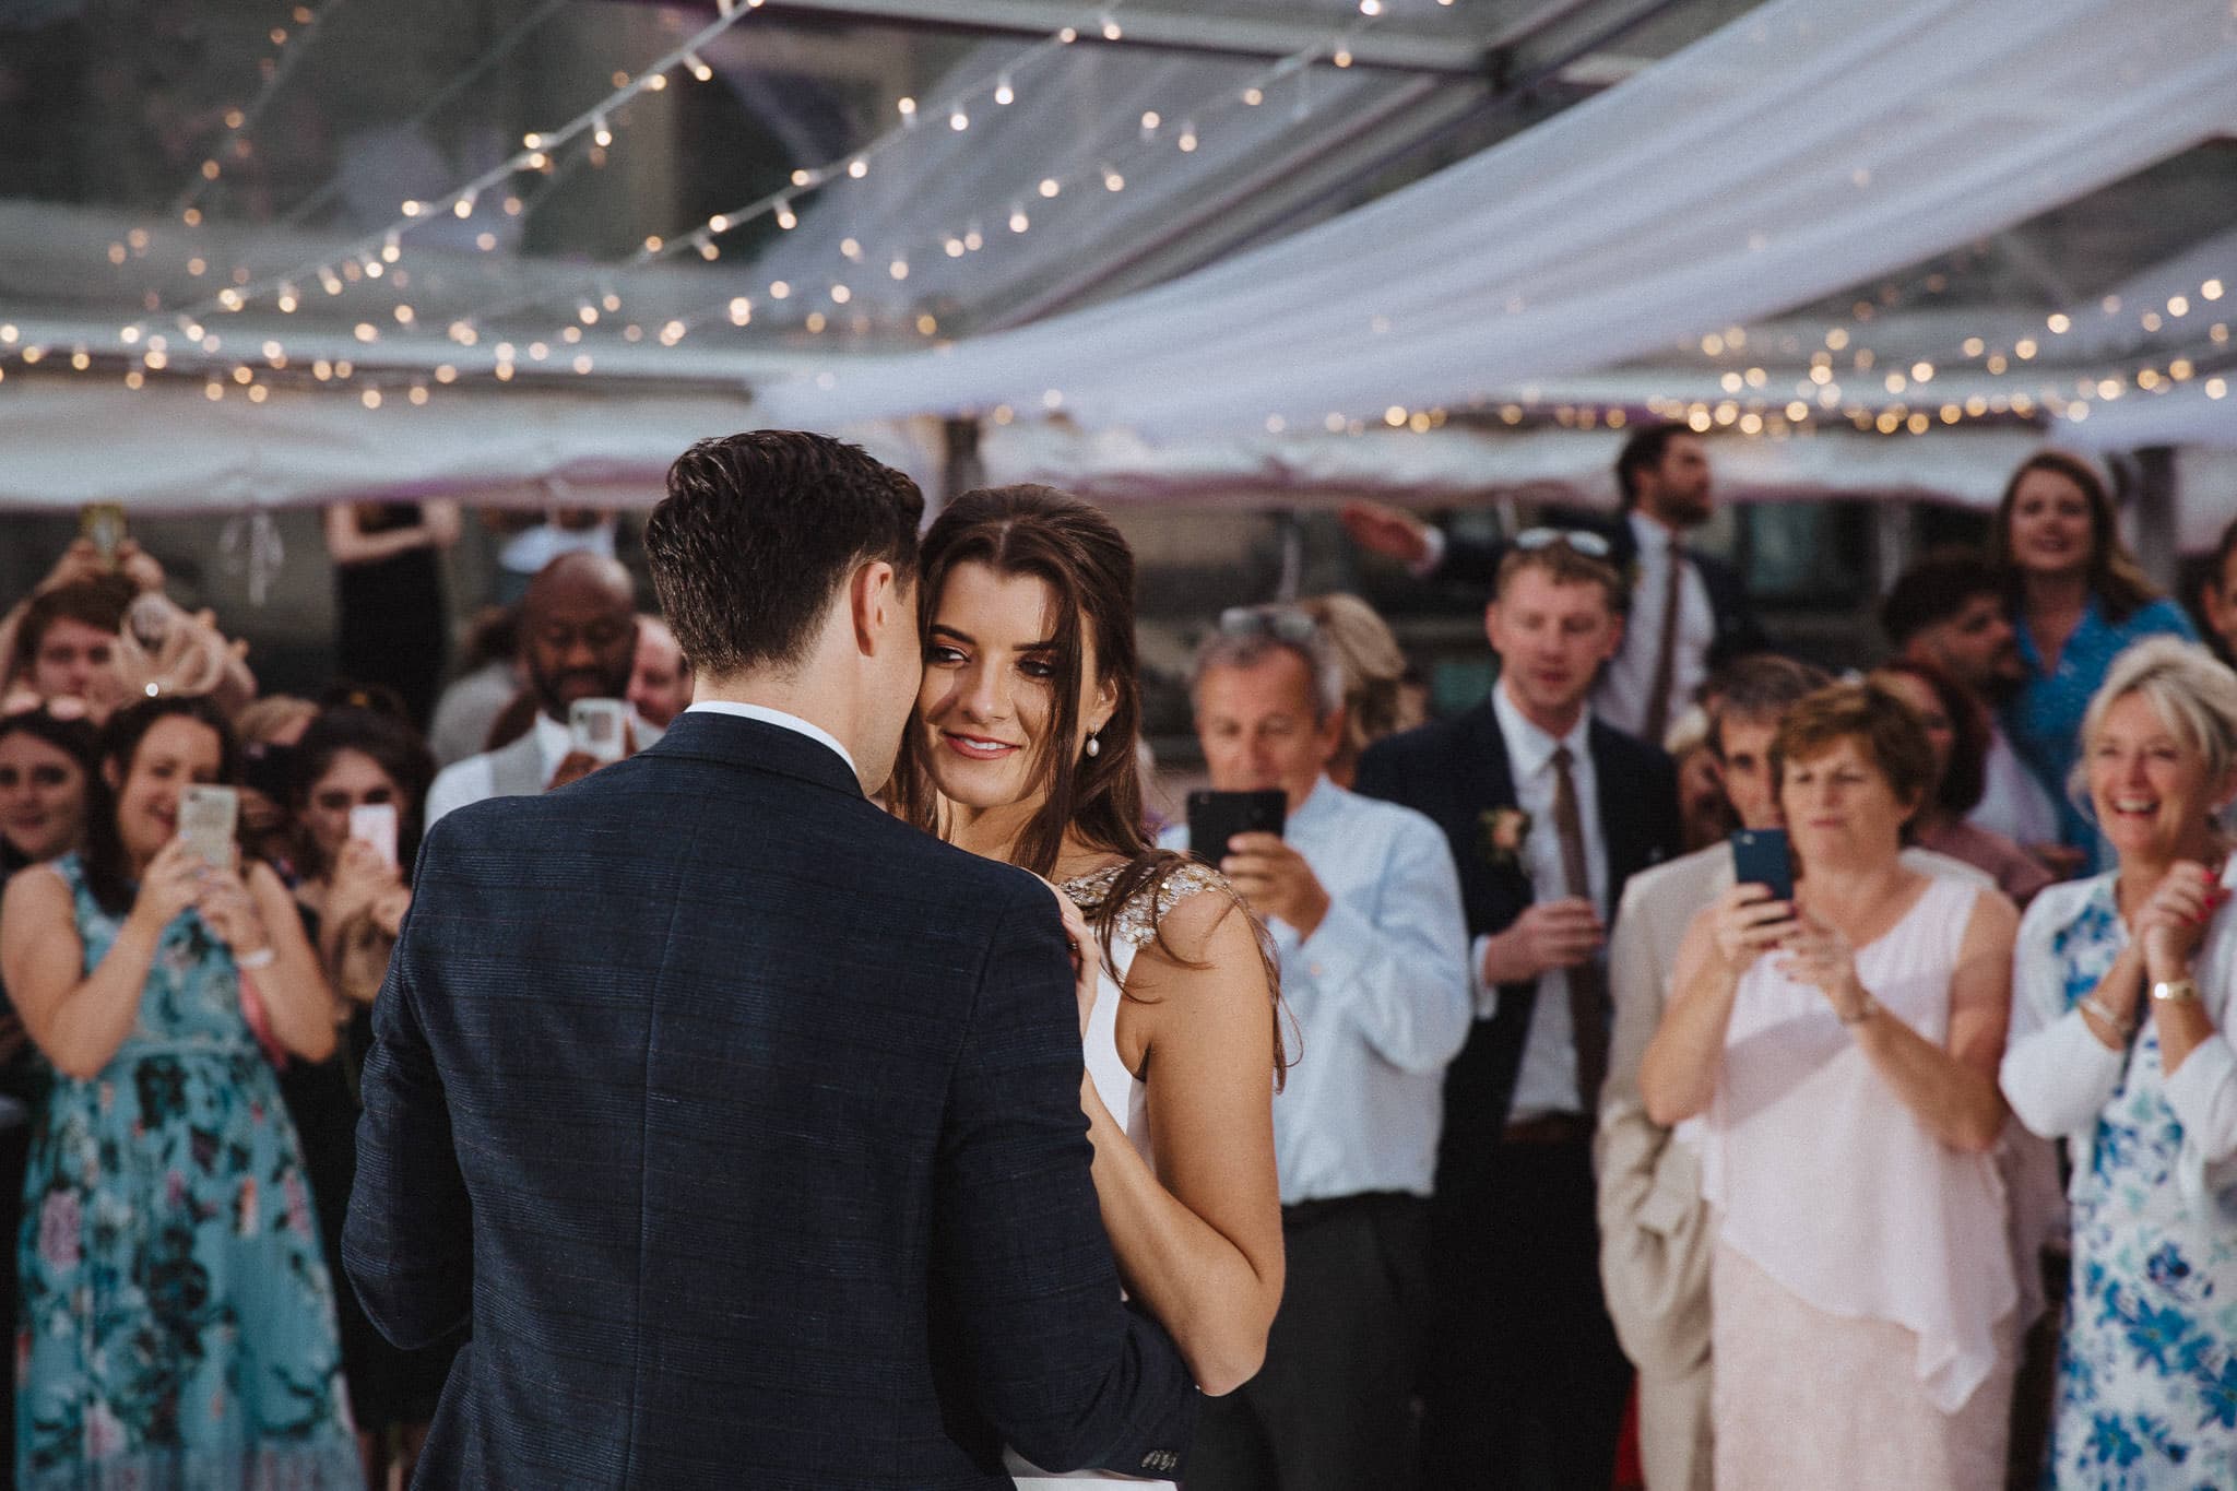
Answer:
<svg viewBox="0 0 2237 1491"><path fill-rule="evenodd" d="M1928 849L1904 849L1904 865L1995 885L1973 865ZM1593 1169L1599 1176L1599 1281L1624 1355L1649 1377L1678 1377L1709 1357L1709 1254L1716 1252L1716 1227L1700 1198L1700 1158L1687 1145L1673 1145L1671 1131L1646 1118L1640 1060L1662 1024L1662 1004L1687 928L1729 887L1729 845L1709 845L1642 870L1624 885L1615 939L1608 943L1615 1035L1608 1046L1608 1082L1599 1089L1599 1131L1593 1138Z"/></svg>

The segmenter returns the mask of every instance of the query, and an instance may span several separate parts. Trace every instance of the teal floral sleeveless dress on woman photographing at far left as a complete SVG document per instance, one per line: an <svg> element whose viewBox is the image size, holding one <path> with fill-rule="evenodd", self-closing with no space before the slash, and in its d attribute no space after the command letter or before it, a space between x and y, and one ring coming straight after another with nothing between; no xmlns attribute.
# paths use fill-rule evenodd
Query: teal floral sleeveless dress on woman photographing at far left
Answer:
<svg viewBox="0 0 2237 1491"><path fill-rule="evenodd" d="M54 870L92 970L123 919ZM18 1487L362 1487L295 1127L199 914L101 1075L54 1077L16 1261Z"/></svg>

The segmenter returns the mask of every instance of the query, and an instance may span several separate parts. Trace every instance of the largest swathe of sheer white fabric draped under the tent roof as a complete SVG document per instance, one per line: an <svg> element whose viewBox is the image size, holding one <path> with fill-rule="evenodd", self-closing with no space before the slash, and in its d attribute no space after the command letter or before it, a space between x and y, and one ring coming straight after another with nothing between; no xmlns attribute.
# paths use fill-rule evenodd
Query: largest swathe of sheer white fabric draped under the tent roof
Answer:
<svg viewBox="0 0 2237 1491"><path fill-rule="evenodd" d="M1159 436L1450 405L1749 322L2237 125L2226 0L1772 0L1499 148L1154 291L761 391Z"/></svg>

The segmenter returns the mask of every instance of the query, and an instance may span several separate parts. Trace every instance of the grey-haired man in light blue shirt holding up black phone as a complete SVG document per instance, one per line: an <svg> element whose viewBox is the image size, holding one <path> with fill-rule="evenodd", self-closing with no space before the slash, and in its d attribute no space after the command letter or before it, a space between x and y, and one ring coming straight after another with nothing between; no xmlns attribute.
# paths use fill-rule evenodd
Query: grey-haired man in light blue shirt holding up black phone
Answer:
<svg viewBox="0 0 2237 1491"><path fill-rule="evenodd" d="M1289 798L1280 836L1199 849L1273 932L1302 1060L1273 1104L1289 1285L1266 1366L1206 1402L1188 1487L1405 1487L1445 1064L1470 1028L1461 885L1434 823L1329 780L1342 673L1304 612L1228 612L1192 697L1212 787Z"/></svg>

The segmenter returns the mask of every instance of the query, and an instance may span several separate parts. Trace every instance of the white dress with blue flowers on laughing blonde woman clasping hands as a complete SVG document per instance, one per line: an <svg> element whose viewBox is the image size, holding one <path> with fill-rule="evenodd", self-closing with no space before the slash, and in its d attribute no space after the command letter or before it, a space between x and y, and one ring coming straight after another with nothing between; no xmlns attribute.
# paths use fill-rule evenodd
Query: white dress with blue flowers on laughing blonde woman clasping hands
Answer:
<svg viewBox="0 0 2237 1491"><path fill-rule="evenodd" d="M2114 876L2051 948L2067 1004L2127 946ZM2237 1487L2237 1189L2183 1203L2183 1127L2168 1107L2159 1031L2141 1022L2127 1071L2074 1183L2074 1290L2058 1350L2051 1487Z"/></svg>

